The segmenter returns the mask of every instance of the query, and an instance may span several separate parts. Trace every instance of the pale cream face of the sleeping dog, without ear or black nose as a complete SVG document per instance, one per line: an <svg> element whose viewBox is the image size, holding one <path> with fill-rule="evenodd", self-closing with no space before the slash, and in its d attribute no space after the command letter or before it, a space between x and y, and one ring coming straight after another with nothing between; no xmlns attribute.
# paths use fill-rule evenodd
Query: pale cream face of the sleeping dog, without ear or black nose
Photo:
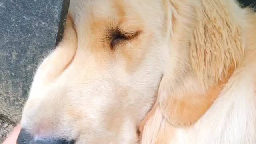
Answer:
<svg viewBox="0 0 256 144"><path fill-rule="evenodd" d="M168 55L160 0L72 0L64 38L39 66L22 128L35 139L133 144Z"/></svg>

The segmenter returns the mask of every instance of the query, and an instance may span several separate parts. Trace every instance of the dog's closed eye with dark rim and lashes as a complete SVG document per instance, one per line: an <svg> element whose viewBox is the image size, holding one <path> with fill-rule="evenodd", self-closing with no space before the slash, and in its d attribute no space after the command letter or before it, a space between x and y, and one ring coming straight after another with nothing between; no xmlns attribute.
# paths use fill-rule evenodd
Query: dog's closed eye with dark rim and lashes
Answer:
<svg viewBox="0 0 256 144"><path fill-rule="evenodd" d="M113 32L112 34L112 39L111 39L111 43L110 46L111 48L114 49L114 47L119 44L120 42L124 42L127 40L132 40L133 38L135 38L136 36L138 36L139 32L123 32L122 30L116 30L115 32Z"/></svg>

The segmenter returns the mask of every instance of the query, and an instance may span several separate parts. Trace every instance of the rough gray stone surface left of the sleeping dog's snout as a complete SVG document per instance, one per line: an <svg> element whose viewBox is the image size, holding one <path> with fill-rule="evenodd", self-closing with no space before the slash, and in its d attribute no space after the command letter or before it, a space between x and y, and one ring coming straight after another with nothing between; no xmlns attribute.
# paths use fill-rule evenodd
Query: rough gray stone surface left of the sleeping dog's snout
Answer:
<svg viewBox="0 0 256 144"><path fill-rule="evenodd" d="M62 37L69 0L0 0L0 144L19 122L39 62Z"/></svg>

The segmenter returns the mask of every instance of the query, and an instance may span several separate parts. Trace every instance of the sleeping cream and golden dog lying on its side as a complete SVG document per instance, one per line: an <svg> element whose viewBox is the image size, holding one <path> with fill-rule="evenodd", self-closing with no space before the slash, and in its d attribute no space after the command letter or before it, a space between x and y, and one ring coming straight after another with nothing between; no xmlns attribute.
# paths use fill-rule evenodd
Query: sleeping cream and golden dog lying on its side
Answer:
<svg viewBox="0 0 256 144"><path fill-rule="evenodd" d="M256 14L234 0L72 0L21 126L18 141L40 144L256 144Z"/></svg>

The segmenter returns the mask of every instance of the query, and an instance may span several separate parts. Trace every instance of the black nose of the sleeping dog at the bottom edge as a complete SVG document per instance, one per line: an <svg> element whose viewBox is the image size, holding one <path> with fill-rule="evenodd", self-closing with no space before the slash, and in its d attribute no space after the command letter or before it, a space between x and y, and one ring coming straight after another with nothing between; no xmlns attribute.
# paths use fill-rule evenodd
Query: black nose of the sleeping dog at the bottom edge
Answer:
<svg viewBox="0 0 256 144"><path fill-rule="evenodd" d="M21 129L18 136L17 144L74 144L74 140L62 140L62 139L40 139L35 140L31 134L26 130Z"/></svg>

